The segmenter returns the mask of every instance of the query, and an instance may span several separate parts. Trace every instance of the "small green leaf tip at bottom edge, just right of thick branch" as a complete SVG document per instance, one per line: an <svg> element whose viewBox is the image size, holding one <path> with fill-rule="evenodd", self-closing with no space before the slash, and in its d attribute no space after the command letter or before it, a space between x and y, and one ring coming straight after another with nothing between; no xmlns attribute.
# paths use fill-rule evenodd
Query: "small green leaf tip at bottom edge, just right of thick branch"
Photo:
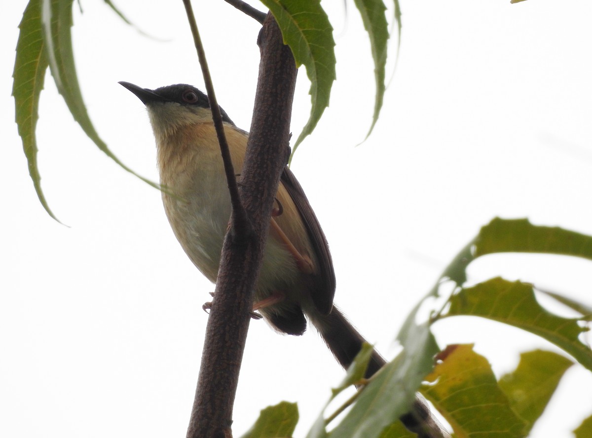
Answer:
<svg viewBox="0 0 592 438"><path fill-rule="evenodd" d="M291 437L298 423L298 406L282 401L261 411L253 427L242 438Z"/></svg>

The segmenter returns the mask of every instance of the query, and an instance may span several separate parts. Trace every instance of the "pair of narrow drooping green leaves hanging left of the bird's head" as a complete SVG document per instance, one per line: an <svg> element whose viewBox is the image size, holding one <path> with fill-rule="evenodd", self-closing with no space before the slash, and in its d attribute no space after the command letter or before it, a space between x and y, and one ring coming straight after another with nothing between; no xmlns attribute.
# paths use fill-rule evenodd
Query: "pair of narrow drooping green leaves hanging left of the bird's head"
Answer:
<svg viewBox="0 0 592 438"><path fill-rule="evenodd" d="M126 20L110 1L106 0L105 2ZM57 91L60 92L74 120L81 126L89 139L127 172L136 175L152 186L159 187L156 183L137 175L136 172L124 165L99 137L89 118L86 105L82 100L72 50L70 28L72 28L73 3L73 0L29 0L18 25L20 33L17 43L17 57L12 73L15 121L18 125L18 134L21 136L22 149L27 157L29 174L41 205L56 220L57 218L50 210L41 190L35 133L39 118L39 98L48 67L52 72Z"/></svg>

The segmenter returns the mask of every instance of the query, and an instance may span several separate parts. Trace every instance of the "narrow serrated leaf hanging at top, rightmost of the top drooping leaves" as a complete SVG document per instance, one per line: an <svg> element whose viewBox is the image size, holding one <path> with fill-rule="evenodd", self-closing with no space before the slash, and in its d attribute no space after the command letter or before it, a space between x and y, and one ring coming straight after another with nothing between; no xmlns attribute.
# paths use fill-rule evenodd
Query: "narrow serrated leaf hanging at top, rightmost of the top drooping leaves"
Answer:
<svg viewBox="0 0 592 438"><path fill-rule="evenodd" d="M374 125L378 121L378 115L382 108L385 91L385 67L387 65L387 41L388 23L385 17L386 7L382 0L354 0L356 8L360 11L362 22L370 38L370 48L374 59L374 80L376 82L376 99L374 102L374 115L372 124L366 134L366 139L372 133ZM396 8L395 8L396 11ZM400 18L400 17L399 17ZM400 21L399 21L400 22ZM401 29L399 28L399 32Z"/></svg>

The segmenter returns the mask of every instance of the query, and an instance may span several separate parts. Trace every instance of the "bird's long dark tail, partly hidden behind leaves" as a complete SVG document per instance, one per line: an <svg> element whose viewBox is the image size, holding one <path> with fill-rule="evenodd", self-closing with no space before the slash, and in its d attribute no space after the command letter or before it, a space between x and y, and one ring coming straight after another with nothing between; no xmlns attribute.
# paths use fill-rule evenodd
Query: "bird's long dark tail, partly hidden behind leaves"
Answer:
<svg viewBox="0 0 592 438"><path fill-rule="evenodd" d="M337 309L329 315L315 315L311 322L317 328L323 340L343 368L352 365L353 359L362 349L362 343L366 340L358 333L347 318ZM366 378L371 377L384 366L386 361L378 352L372 353L372 358L366 369ZM432 417L430 410L422 399L416 396L411 410L404 414L400 420L410 431L417 433L419 438L444 438L448 436L441 429L436 419Z"/></svg>

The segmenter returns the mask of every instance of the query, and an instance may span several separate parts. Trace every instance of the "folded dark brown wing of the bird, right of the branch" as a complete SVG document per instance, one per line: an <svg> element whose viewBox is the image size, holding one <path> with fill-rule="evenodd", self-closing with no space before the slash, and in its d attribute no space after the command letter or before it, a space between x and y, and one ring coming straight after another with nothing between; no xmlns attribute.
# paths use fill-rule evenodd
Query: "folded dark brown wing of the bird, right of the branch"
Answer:
<svg viewBox="0 0 592 438"><path fill-rule="evenodd" d="M335 295L335 272L327 238L294 173L287 167L284 168L280 181L284 184L290 198L294 201L298 213L300 213L317 257L319 268L318 275L316 275L317 290L311 294L314 304L322 314L329 314L333 308L333 297Z"/></svg>

